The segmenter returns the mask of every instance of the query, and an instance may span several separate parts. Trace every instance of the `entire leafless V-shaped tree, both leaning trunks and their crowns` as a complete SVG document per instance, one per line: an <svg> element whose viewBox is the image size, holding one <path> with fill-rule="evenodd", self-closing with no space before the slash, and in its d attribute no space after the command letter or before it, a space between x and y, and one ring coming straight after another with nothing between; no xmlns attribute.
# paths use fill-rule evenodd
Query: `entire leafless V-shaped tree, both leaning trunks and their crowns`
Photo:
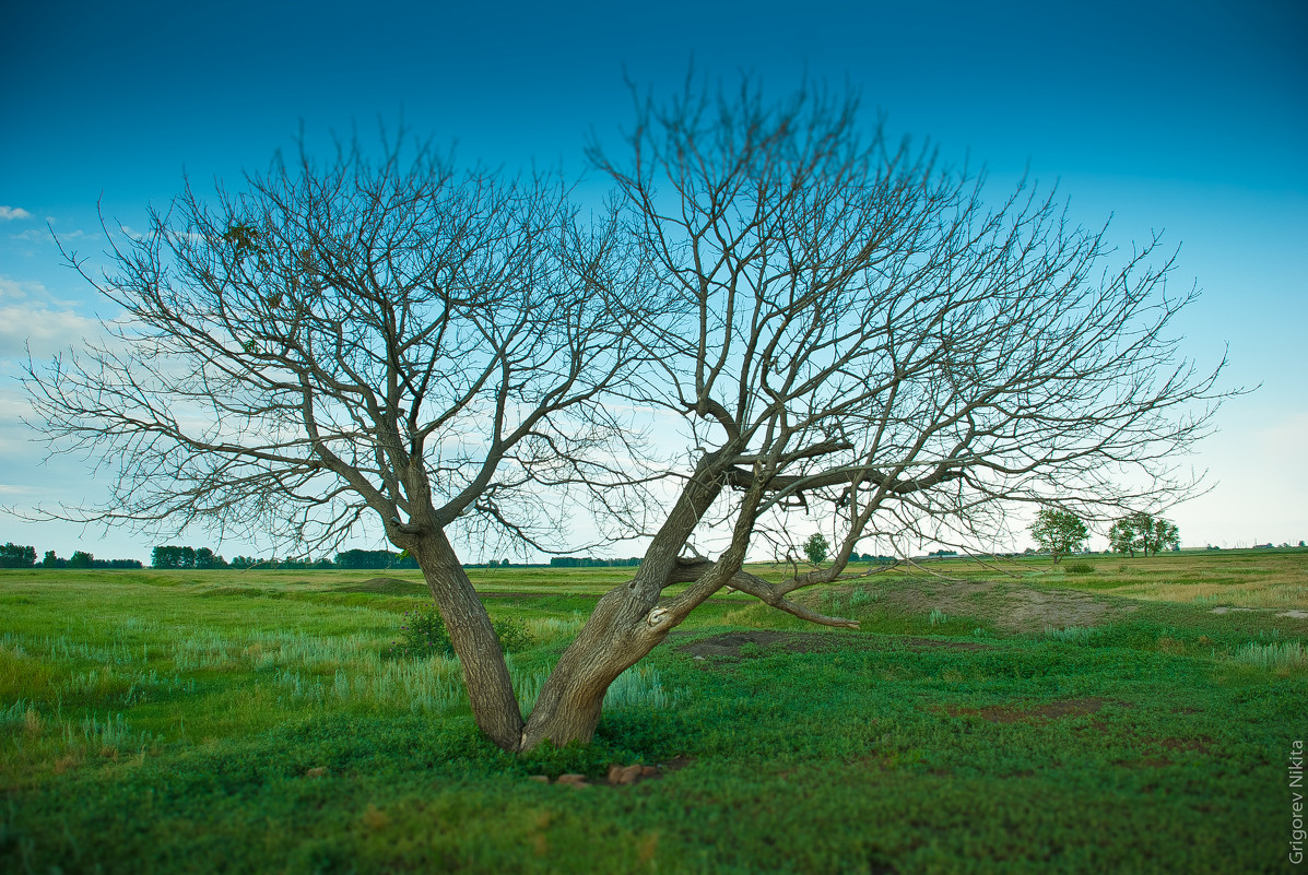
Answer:
<svg viewBox="0 0 1308 875"><path fill-rule="evenodd" d="M1192 296L1168 294L1152 245L1114 259L1025 187L986 208L930 150L861 139L849 94L769 103L746 81L636 109L621 160L591 150L620 225L582 229L557 186L430 156L303 161L213 211L187 192L115 251L118 345L33 369L42 428L118 463L105 519L328 541L378 515L506 749L589 740L610 684L727 585L857 626L791 595L848 577L861 539L974 539L1014 502L1095 518L1185 490L1169 460L1203 433L1216 371L1177 360ZM634 578L523 719L447 532L536 540L551 487L630 510L610 489L634 479L613 460L633 455L625 405L684 417L688 463L628 532L650 536ZM828 565L743 570L819 505L840 518ZM715 560L687 557L713 532Z"/></svg>

